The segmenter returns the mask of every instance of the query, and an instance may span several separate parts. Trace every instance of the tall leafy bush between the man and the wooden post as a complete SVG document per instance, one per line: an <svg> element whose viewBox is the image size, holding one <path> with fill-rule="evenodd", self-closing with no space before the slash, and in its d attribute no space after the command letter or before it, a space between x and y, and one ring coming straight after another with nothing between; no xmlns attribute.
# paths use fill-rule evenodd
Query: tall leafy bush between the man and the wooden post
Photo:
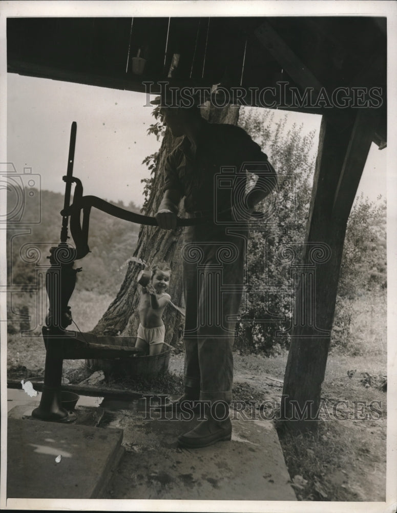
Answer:
<svg viewBox="0 0 397 513"><path fill-rule="evenodd" d="M256 209L267 212L263 225L252 228L247 248L248 283L252 290L278 287L274 293L250 294L237 326L237 347L242 351L280 354L288 337L277 338L291 319L290 264L282 251L303 242L310 204L314 156L314 132L302 134L303 126L286 131L287 116L273 125L269 110L241 109L239 125L261 146L278 172L277 208L265 199ZM263 321L265 320L265 321Z"/></svg>

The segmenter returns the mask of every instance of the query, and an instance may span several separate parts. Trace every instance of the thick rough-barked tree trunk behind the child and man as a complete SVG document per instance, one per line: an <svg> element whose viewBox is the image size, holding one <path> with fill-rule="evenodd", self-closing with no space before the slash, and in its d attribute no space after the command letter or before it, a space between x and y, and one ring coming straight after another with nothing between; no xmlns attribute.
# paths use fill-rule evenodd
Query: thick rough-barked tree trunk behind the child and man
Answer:
<svg viewBox="0 0 397 513"><path fill-rule="evenodd" d="M231 106L217 109L211 105L202 110L202 115L210 123L236 125L239 108ZM179 142L180 139L173 139L169 129L166 129L154 171L149 200L144 211L145 215L154 215L157 212L163 196L165 159ZM180 208L179 216L184 216L182 208ZM163 320L165 324L165 342L172 346L181 343L184 326L184 316L181 313L184 309L181 257L182 230L183 228L177 228L175 231L169 231L161 230L157 226L141 226L138 245L134 251L134 257L148 264L156 260L164 260L171 266L172 273L168 292L171 295L172 304L166 307ZM140 270L141 266L138 263L129 263L126 277L116 298L93 329L93 333L97 335L136 336L139 325L137 313L139 290L136 280ZM88 364L93 367L98 365L96 361L92 360L88 361Z"/></svg>

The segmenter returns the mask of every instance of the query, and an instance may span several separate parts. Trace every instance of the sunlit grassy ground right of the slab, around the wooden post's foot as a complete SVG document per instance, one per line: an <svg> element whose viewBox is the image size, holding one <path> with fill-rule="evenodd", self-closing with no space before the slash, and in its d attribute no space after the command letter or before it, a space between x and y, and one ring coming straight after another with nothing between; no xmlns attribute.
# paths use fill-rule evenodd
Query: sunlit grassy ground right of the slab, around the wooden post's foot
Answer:
<svg viewBox="0 0 397 513"><path fill-rule="evenodd" d="M346 345L331 346L322 385L329 419L319 421L315 432L279 431L298 500L385 500L387 410L382 377L387 376L386 296L362 295L349 306L352 314ZM282 360L280 357L266 366L274 376L283 372ZM332 415L332 406L338 401L347 401L344 408L350 419L337 420ZM372 404L380 405L381 417L367 406L361 415L357 401L377 401ZM365 415L372 419L364 419Z"/></svg>

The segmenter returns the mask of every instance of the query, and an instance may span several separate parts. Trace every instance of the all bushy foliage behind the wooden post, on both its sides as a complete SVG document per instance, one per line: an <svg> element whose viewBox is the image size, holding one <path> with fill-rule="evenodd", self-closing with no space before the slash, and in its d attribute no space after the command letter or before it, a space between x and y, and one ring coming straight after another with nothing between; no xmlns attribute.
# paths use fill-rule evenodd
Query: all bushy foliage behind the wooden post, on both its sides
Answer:
<svg viewBox="0 0 397 513"><path fill-rule="evenodd" d="M252 290L279 289L248 295L242 304L236 340L236 347L243 352L268 355L280 354L289 345L288 337L277 337L278 331L290 325L293 306L290 261L283 258L283 251L294 248L295 261L299 262L315 167L315 133L305 135L303 126L295 124L286 130L287 115L275 125L273 117L269 110L241 108L239 118L239 125L261 146L279 176L278 208L272 211L268 199L256 207L268 215L261 230L250 230L247 248L247 276ZM386 203L375 204L361 196L353 205L347 225L331 347L352 350L351 323L356 312L352 311L351 300L366 291L384 288Z"/></svg>

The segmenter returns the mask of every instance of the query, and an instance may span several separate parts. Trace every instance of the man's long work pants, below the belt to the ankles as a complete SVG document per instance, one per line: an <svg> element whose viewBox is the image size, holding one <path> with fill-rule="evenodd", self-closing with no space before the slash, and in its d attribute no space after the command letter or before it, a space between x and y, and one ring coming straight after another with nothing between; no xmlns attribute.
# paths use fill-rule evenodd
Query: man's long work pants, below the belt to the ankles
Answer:
<svg viewBox="0 0 397 513"><path fill-rule="evenodd" d="M200 400L230 402L233 343L244 282L245 230L200 226L185 231L184 384Z"/></svg>

